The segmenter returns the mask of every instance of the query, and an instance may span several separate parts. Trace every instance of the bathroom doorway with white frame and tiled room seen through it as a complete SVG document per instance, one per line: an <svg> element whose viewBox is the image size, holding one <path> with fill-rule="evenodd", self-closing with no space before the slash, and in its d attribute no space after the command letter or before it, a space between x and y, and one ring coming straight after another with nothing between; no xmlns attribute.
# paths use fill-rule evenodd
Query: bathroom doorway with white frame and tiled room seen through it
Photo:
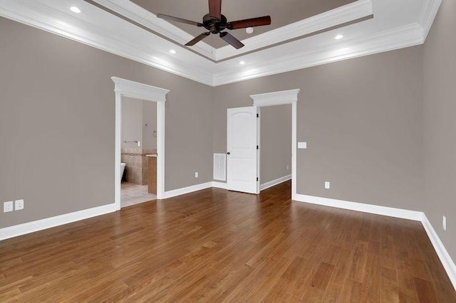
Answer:
<svg viewBox="0 0 456 303"><path fill-rule="evenodd" d="M123 207L122 196L124 199L130 196L130 204L142 199L150 201L154 198L161 199L164 197L165 101L166 95L170 91L116 77L113 77L112 80L115 83L115 208L120 210ZM151 102L153 103L151 104ZM150 114L150 112L154 112L154 107L156 119L152 119L147 114L142 115L144 108ZM140 111L138 108L142 109L141 118L139 118L138 112ZM134 125L123 129L123 110L129 116L135 116L140 121L135 121L134 117L129 117L128 122L127 120L125 122ZM134 129L137 130L134 131ZM125 133L123 134L123 132ZM141 133L141 136L138 132ZM144 138L142 137L143 132L146 134ZM152 138L154 137L156 148L143 149L144 144L147 144L145 147L153 146L154 139ZM121 161L122 159L125 162L131 161L130 170L128 170L128 164ZM154 164L155 166L153 166ZM147 185L143 184L146 183L146 177ZM123 178L130 181L130 184L122 186ZM151 179L155 184L151 183ZM124 195L122 187L125 190ZM156 196L148 196L149 191L155 191ZM125 203L125 206L128 204Z"/></svg>

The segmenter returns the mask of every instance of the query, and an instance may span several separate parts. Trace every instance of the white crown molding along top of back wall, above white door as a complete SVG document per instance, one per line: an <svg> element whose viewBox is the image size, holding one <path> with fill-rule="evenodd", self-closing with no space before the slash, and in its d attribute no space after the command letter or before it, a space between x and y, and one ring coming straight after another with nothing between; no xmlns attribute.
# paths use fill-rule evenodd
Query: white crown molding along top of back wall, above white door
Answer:
<svg viewBox="0 0 456 303"><path fill-rule="evenodd" d="M228 70L222 73L215 73L213 85L219 86L261 78L267 75L286 73L292 70L416 46L422 43L423 26L419 23L413 23L363 38L347 40L343 44L306 49L292 55L277 56L274 60L261 61L260 63L245 66L241 71ZM278 50L270 49L270 51Z"/></svg>

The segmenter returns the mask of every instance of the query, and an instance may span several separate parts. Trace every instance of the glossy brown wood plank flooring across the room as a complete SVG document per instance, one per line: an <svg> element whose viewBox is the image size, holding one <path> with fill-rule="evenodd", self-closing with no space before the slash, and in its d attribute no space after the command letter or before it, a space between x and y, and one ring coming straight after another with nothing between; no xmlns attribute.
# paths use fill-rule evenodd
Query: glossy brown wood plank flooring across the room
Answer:
<svg viewBox="0 0 456 303"><path fill-rule="evenodd" d="M418 222L207 189L0 243L0 302L456 302Z"/></svg>

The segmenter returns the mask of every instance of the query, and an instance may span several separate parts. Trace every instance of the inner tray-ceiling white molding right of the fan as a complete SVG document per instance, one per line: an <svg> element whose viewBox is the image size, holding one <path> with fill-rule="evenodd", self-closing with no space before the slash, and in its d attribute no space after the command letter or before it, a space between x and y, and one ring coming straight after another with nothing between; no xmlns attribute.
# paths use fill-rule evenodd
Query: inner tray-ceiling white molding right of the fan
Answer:
<svg viewBox="0 0 456 303"><path fill-rule="evenodd" d="M318 14L304 20L291 23L281 28L266 31L260 35L247 38L242 41L245 46L239 50L232 46L224 46L215 50L216 61L232 58L243 53L251 53L260 48L284 43L295 38L307 36L311 33L324 31L328 28L340 26L341 24L356 21L373 15L371 0L358 0L323 14Z"/></svg>

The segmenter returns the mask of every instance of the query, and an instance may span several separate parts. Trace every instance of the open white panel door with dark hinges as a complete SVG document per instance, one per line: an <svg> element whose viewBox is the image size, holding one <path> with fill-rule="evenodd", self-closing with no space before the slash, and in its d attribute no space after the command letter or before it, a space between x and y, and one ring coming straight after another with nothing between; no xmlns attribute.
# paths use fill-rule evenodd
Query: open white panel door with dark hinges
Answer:
<svg viewBox="0 0 456 303"><path fill-rule="evenodd" d="M259 193L257 107L228 109L227 188Z"/></svg>

